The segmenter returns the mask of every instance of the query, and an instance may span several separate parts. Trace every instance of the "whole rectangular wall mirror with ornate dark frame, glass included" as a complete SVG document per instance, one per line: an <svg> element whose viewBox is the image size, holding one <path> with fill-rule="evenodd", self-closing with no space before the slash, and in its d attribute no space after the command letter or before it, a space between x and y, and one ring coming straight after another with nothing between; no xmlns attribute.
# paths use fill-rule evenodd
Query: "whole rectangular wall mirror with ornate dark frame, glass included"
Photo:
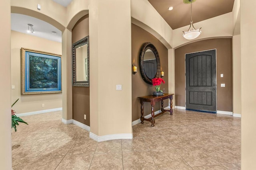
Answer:
<svg viewBox="0 0 256 170"><path fill-rule="evenodd" d="M89 87L89 36L72 45L72 84Z"/></svg>

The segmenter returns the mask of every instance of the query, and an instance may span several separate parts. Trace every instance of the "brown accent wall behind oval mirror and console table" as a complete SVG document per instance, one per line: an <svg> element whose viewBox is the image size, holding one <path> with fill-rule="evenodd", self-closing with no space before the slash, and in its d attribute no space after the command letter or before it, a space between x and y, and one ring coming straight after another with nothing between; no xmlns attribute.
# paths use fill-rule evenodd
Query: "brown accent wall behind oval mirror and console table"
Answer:
<svg viewBox="0 0 256 170"><path fill-rule="evenodd" d="M138 72L132 74L132 64L131 64L131 74L132 74L132 121L140 118L140 100L138 97L147 96L152 94L154 86L147 84L142 79L140 74L140 48L146 43L151 42L156 47L159 57L161 70L164 71L164 81L165 84L161 84L161 90L165 90L168 93L168 49L152 34L148 33L144 29L132 24L132 64L137 66ZM164 107L168 106L168 101L164 101ZM161 108L161 103L157 103L155 111ZM144 103L144 116L151 113L150 103Z"/></svg>

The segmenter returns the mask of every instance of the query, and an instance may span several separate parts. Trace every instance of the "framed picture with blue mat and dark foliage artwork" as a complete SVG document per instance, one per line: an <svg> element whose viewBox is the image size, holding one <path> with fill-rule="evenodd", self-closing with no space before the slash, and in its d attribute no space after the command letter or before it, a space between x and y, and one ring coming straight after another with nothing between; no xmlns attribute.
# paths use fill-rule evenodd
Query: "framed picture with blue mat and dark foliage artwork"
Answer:
<svg viewBox="0 0 256 170"><path fill-rule="evenodd" d="M61 55L21 48L22 94L61 93Z"/></svg>

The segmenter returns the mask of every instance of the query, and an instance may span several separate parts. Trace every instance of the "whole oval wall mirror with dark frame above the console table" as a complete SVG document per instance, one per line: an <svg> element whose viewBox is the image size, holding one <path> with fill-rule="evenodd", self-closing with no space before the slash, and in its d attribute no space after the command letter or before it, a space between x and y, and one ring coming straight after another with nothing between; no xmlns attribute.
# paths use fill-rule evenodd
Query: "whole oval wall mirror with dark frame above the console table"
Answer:
<svg viewBox="0 0 256 170"><path fill-rule="evenodd" d="M140 73L148 84L152 84L152 78L160 76L160 58L152 43L144 43L140 49Z"/></svg>

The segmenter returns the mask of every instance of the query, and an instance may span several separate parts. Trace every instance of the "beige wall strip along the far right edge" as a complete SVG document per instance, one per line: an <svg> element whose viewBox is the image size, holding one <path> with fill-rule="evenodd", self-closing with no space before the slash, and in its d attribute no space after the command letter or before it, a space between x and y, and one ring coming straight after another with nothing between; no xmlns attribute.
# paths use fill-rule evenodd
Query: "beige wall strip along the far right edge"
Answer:
<svg viewBox="0 0 256 170"><path fill-rule="evenodd" d="M256 1L241 0L242 170L256 169Z"/></svg>

